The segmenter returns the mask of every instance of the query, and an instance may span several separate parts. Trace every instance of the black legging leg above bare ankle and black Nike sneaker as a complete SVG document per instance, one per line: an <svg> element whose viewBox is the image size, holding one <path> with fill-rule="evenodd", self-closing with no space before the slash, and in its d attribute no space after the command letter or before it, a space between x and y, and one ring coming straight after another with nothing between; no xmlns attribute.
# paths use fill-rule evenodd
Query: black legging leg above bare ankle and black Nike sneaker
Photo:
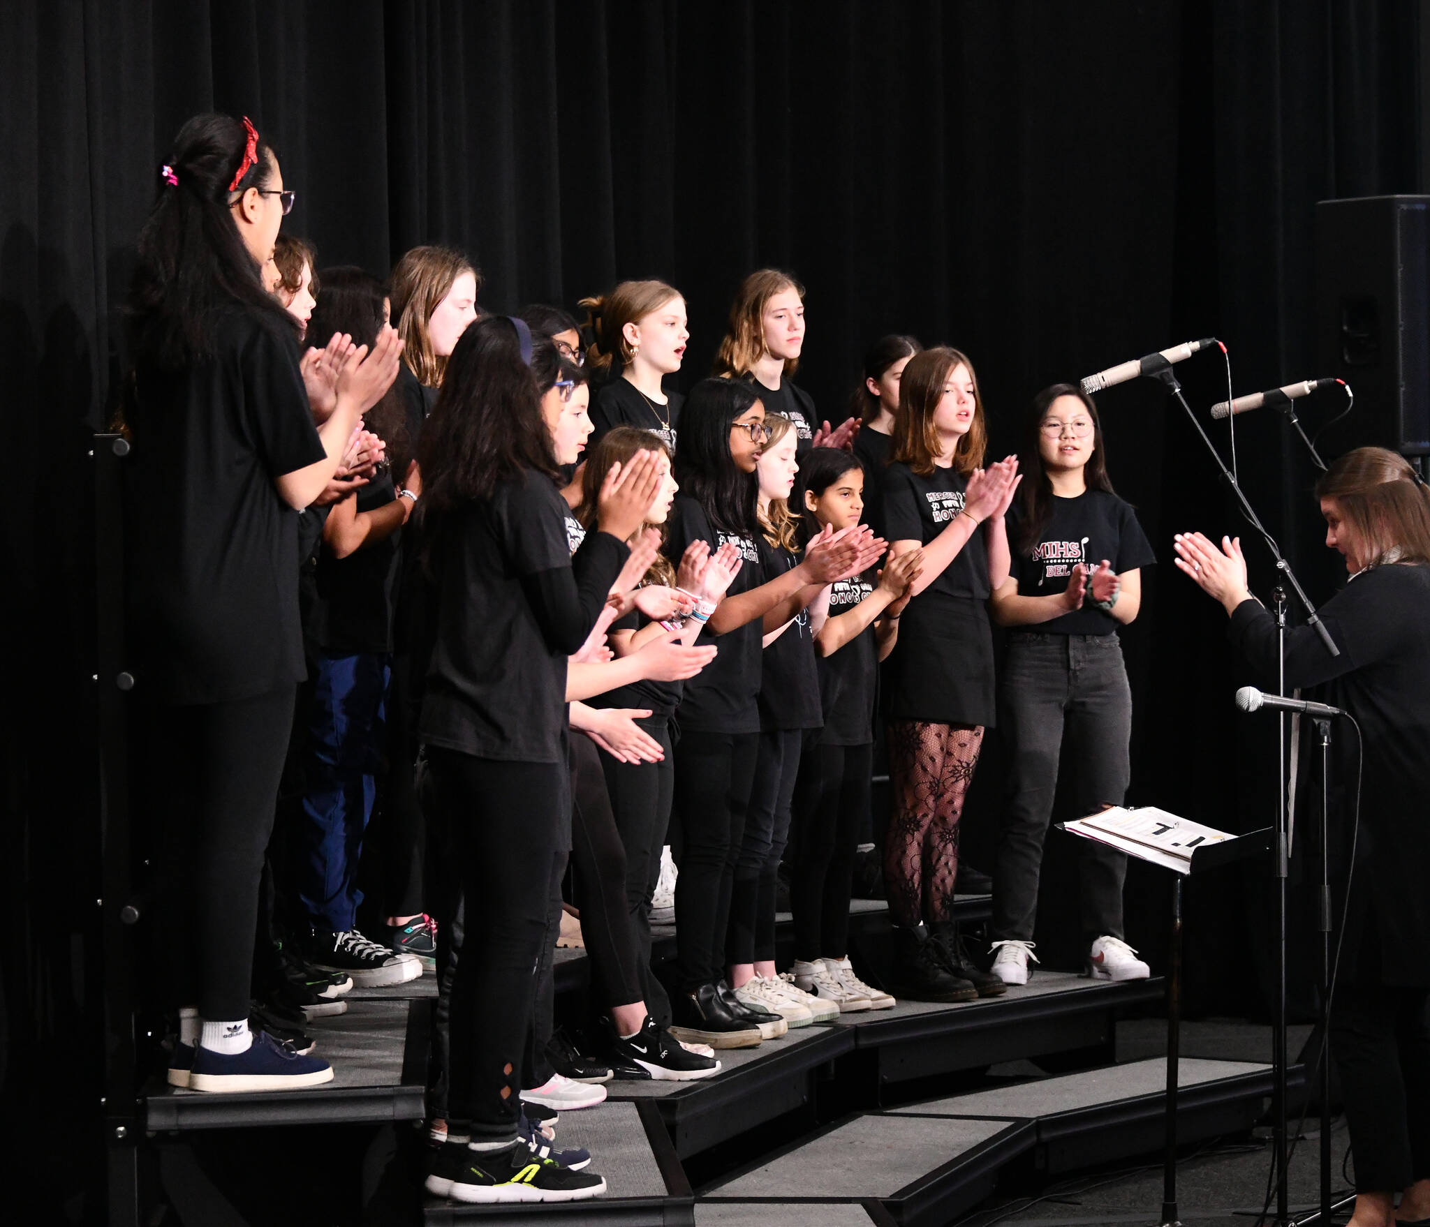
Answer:
<svg viewBox="0 0 1430 1227"><path fill-rule="evenodd" d="M601 751L585 734L571 736L571 865L581 935L601 1002L641 1001L641 945L626 904L626 859L606 795ZM656 861L659 867L659 861Z"/></svg>

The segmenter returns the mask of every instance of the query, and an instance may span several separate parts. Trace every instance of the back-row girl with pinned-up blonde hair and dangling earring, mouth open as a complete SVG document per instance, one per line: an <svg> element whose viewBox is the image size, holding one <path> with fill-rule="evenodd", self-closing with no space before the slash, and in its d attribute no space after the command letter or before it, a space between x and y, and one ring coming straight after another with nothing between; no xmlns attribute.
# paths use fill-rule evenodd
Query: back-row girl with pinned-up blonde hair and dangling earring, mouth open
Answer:
<svg viewBox="0 0 1430 1227"><path fill-rule="evenodd" d="M659 435L674 452L685 398L666 392L662 380L681 369L691 339L685 299L665 282L621 282L581 306L588 312L591 369L605 380L591 406L592 446L616 426L635 426Z"/></svg>

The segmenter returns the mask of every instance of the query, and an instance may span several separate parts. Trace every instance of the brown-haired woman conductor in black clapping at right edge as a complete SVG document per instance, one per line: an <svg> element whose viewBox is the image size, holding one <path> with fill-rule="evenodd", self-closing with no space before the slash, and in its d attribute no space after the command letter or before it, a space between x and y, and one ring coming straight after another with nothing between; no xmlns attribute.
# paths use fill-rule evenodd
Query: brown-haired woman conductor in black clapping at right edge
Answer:
<svg viewBox="0 0 1430 1227"><path fill-rule="evenodd" d="M1330 1034L1356 1150L1356 1227L1430 1216L1430 492L1384 448L1357 448L1316 486L1326 545L1350 582L1321 606L1340 649L1314 628L1286 632L1286 685L1354 718L1338 722L1333 765L1357 811L1333 811L1354 848L1351 881L1337 882L1344 954ZM1220 549L1200 532L1175 538L1177 568L1231 616L1231 641L1264 682L1277 679L1277 628L1247 588L1241 542ZM1358 758L1364 757L1360 762ZM1314 792L1313 792L1314 795ZM1313 805L1316 802L1313 801ZM1400 1207L1394 1196L1400 1191Z"/></svg>

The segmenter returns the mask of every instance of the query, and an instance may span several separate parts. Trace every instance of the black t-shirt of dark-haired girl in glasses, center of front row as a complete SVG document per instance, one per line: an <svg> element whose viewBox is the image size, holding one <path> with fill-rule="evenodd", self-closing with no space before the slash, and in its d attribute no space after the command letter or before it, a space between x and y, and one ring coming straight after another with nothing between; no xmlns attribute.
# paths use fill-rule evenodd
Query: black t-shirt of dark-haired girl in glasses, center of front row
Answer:
<svg viewBox="0 0 1430 1227"><path fill-rule="evenodd" d="M739 572L729 585L728 596L738 596L758 588L759 546L754 538L716 532L709 518L689 495L676 495L665 521L665 556L679 566L681 555L692 541L709 543L711 551L726 542L739 546ZM736 631L712 635L701 632L699 644L714 644L718 651L701 672L685 684L681 698L679 725L698 732L759 732L759 654L761 619L754 618Z"/></svg>

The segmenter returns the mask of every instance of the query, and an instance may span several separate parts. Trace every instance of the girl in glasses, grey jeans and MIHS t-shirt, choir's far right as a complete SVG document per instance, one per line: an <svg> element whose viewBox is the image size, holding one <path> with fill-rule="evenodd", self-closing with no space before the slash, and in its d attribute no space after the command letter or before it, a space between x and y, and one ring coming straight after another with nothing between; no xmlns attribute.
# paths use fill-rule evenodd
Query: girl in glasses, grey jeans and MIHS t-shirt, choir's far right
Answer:
<svg viewBox="0 0 1430 1227"><path fill-rule="evenodd" d="M1038 871L1064 739L1077 812L1123 804L1133 695L1117 628L1137 616L1140 568L1157 561L1137 513L1113 492L1090 396L1071 383L1040 392L1024 462L1032 478L1010 513L1012 566L992 595L994 618L1010 628L998 719L1011 769L992 895L992 971L1004 984L1027 984L1037 962ZM1078 845L1088 967L1098 980L1143 980L1147 964L1123 941L1127 855Z"/></svg>

